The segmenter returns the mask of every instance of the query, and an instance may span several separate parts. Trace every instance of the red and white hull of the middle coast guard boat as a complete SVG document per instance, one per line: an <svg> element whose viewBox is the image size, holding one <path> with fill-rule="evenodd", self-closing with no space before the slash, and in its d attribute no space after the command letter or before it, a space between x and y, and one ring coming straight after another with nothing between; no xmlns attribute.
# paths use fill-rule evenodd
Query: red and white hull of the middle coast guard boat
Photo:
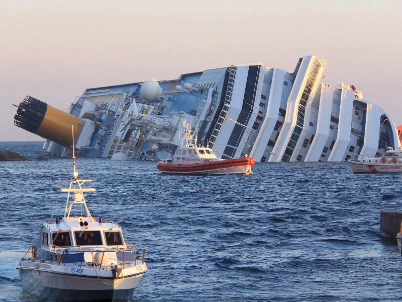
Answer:
<svg viewBox="0 0 402 302"><path fill-rule="evenodd" d="M254 166L254 164L255 160L247 157L197 164L170 164L159 162L156 168L162 173L170 174L251 174L251 167Z"/></svg>

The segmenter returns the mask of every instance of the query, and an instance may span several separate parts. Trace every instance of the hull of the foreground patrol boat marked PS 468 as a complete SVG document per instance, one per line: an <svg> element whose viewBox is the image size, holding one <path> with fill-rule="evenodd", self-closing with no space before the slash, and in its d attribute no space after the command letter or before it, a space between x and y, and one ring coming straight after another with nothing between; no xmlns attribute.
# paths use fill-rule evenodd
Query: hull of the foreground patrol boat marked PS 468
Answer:
<svg viewBox="0 0 402 302"><path fill-rule="evenodd" d="M32 267L35 264L35 267ZM70 267L50 266L46 263L23 261L17 268L24 291L53 301L131 301L135 288L145 273L131 276L101 277L67 273ZM86 269L89 270L89 269ZM76 269L75 271L78 271ZM92 269L92 271L95 271Z"/></svg>

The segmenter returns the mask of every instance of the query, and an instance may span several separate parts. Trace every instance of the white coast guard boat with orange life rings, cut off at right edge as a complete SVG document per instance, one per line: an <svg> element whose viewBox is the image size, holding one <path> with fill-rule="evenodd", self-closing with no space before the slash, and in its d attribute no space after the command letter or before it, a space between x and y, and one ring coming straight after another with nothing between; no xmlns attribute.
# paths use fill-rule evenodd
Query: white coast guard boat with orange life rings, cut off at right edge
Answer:
<svg viewBox="0 0 402 302"><path fill-rule="evenodd" d="M402 172L402 150L388 147L381 157L360 155L348 163L354 173Z"/></svg>

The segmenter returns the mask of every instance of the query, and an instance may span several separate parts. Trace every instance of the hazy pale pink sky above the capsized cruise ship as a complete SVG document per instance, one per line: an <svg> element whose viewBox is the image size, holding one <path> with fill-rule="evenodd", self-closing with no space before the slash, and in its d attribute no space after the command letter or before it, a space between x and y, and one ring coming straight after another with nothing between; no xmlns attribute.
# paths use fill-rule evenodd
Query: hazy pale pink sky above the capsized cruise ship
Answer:
<svg viewBox="0 0 402 302"><path fill-rule="evenodd" d="M43 140L14 126L27 95L64 110L86 88L306 55L399 125L401 19L400 0L0 0L0 141Z"/></svg>

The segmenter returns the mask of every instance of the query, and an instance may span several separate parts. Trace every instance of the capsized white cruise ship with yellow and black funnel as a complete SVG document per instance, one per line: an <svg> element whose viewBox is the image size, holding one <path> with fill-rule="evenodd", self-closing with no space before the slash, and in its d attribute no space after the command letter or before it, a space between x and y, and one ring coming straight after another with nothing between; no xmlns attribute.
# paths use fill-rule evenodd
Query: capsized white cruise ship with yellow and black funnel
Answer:
<svg viewBox="0 0 402 302"><path fill-rule="evenodd" d="M77 156L169 160L181 143L183 119L197 144L223 159L341 162L400 147L382 108L353 85L323 82L326 65L311 55L292 72L255 62L90 88L68 113L27 96L14 123L47 139L43 149L61 157L71 156L74 138Z"/></svg>

